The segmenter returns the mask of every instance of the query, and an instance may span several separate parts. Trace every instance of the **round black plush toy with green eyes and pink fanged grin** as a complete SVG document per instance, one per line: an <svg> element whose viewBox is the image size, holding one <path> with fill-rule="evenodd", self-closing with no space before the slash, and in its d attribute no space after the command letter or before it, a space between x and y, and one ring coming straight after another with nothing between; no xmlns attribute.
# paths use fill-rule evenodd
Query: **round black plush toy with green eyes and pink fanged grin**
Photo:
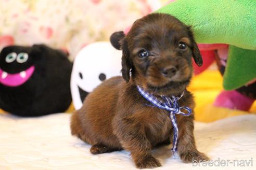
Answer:
<svg viewBox="0 0 256 170"><path fill-rule="evenodd" d="M25 117L64 112L71 104L72 63L45 45L8 46L0 53L0 108Z"/></svg>

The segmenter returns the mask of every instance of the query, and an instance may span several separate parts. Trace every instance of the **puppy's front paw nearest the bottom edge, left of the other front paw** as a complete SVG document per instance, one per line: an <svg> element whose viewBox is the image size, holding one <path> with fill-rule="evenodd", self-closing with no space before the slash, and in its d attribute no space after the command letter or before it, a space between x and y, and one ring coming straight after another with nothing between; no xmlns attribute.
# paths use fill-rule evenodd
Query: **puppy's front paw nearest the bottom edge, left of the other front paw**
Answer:
<svg viewBox="0 0 256 170"><path fill-rule="evenodd" d="M135 164L136 167L140 169L162 166L161 163L156 158L152 157L152 155L143 157L142 159L135 161Z"/></svg>

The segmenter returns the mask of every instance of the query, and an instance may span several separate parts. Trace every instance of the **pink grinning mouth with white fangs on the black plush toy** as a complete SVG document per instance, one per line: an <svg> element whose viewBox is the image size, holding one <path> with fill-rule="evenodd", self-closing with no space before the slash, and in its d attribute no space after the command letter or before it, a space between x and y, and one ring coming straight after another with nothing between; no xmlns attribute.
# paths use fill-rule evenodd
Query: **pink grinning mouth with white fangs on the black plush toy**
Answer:
<svg viewBox="0 0 256 170"><path fill-rule="evenodd" d="M31 66L20 73L10 74L10 73L4 72L0 68L0 83L9 87L20 86L32 76L32 74L34 73L34 69L35 67Z"/></svg>

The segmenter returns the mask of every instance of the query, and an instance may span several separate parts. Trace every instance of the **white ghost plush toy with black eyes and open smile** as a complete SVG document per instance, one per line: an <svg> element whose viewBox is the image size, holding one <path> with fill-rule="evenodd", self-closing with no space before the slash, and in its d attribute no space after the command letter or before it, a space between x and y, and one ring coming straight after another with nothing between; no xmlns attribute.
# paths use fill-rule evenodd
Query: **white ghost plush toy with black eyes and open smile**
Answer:
<svg viewBox="0 0 256 170"><path fill-rule="evenodd" d="M122 51L110 42L97 42L82 48L74 59L71 74L71 94L75 109L84 98L105 79L121 75Z"/></svg>

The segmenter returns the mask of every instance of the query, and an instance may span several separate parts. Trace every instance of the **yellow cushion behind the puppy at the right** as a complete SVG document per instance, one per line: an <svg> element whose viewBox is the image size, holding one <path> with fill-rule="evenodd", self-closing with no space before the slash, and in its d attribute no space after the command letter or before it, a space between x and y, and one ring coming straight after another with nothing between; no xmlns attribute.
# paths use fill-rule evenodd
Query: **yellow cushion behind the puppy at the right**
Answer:
<svg viewBox="0 0 256 170"><path fill-rule="evenodd" d="M216 96L223 90L222 76L217 70L207 70L194 76L188 89L195 95L195 120L197 121L212 122L231 116L256 113L256 102L253 103L250 112L212 105Z"/></svg>

